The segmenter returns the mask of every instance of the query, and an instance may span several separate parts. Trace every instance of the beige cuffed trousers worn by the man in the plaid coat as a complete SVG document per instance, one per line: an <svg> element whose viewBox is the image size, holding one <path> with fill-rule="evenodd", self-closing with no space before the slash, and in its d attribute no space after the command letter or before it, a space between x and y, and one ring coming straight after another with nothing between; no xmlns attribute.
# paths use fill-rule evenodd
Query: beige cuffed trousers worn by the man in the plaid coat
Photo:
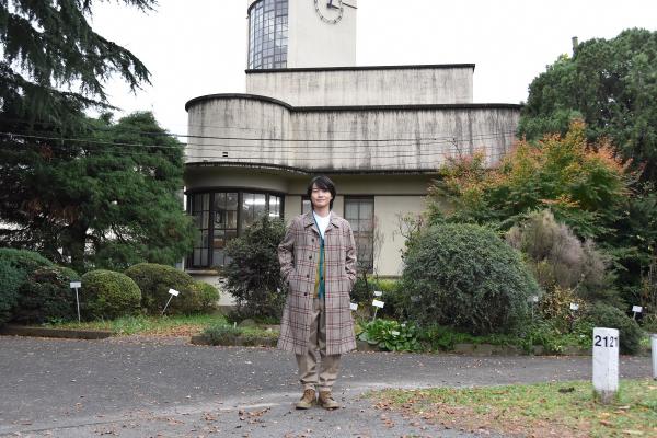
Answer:
<svg viewBox="0 0 657 438"><path fill-rule="evenodd" d="M318 348L322 359L319 372ZM296 356L299 381L303 390L331 391L339 371L341 355L326 355L326 312L324 312L323 299L314 298L312 302L308 351Z"/></svg>

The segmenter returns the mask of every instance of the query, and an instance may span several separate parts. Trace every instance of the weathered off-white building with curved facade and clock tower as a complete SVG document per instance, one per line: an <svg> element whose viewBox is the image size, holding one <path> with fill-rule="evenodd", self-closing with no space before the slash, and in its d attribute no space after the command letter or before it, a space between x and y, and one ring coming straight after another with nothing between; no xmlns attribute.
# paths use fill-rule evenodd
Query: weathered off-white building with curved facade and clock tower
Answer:
<svg viewBox="0 0 657 438"><path fill-rule="evenodd" d="M356 0L246 5L246 94L185 106L188 211L203 234L187 272L215 276L227 241L257 215L304 211L308 182L326 174L360 258L400 275L399 218L424 210L448 157L484 151L495 164L520 106L473 103L472 64L356 67Z"/></svg>

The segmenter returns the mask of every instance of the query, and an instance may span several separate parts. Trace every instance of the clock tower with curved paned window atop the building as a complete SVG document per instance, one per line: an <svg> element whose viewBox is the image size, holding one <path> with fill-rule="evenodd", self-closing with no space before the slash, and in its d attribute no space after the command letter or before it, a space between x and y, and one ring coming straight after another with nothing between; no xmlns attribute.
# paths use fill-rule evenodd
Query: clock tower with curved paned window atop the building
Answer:
<svg viewBox="0 0 657 438"><path fill-rule="evenodd" d="M247 69L356 66L357 0L247 0Z"/></svg>

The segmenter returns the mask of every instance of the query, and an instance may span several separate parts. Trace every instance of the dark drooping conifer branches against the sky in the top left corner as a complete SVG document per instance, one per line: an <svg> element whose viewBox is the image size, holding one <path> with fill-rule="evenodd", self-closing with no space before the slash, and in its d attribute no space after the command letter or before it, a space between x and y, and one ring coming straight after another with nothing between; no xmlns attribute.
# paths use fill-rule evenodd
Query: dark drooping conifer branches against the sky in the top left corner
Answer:
<svg viewBox="0 0 657 438"><path fill-rule="evenodd" d="M142 11L155 4L120 2ZM103 85L111 76L122 77L131 90L149 81L148 69L135 55L93 31L91 5L91 0L0 2L3 131L20 122L26 123L21 131L31 130L24 128L35 122L78 125L81 110L108 106Z"/></svg>

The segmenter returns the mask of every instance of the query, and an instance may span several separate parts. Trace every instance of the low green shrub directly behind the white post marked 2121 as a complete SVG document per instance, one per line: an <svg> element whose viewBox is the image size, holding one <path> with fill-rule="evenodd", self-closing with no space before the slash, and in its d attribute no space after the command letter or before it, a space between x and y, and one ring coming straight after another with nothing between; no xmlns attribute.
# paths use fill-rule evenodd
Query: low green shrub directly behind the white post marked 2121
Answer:
<svg viewBox="0 0 657 438"><path fill-rule="evenodd" d="M586 319L596 327L618 328L622 354L638 353L643 332L636 321L623 313L622 310L598 302L587 311Z"/></svg>

